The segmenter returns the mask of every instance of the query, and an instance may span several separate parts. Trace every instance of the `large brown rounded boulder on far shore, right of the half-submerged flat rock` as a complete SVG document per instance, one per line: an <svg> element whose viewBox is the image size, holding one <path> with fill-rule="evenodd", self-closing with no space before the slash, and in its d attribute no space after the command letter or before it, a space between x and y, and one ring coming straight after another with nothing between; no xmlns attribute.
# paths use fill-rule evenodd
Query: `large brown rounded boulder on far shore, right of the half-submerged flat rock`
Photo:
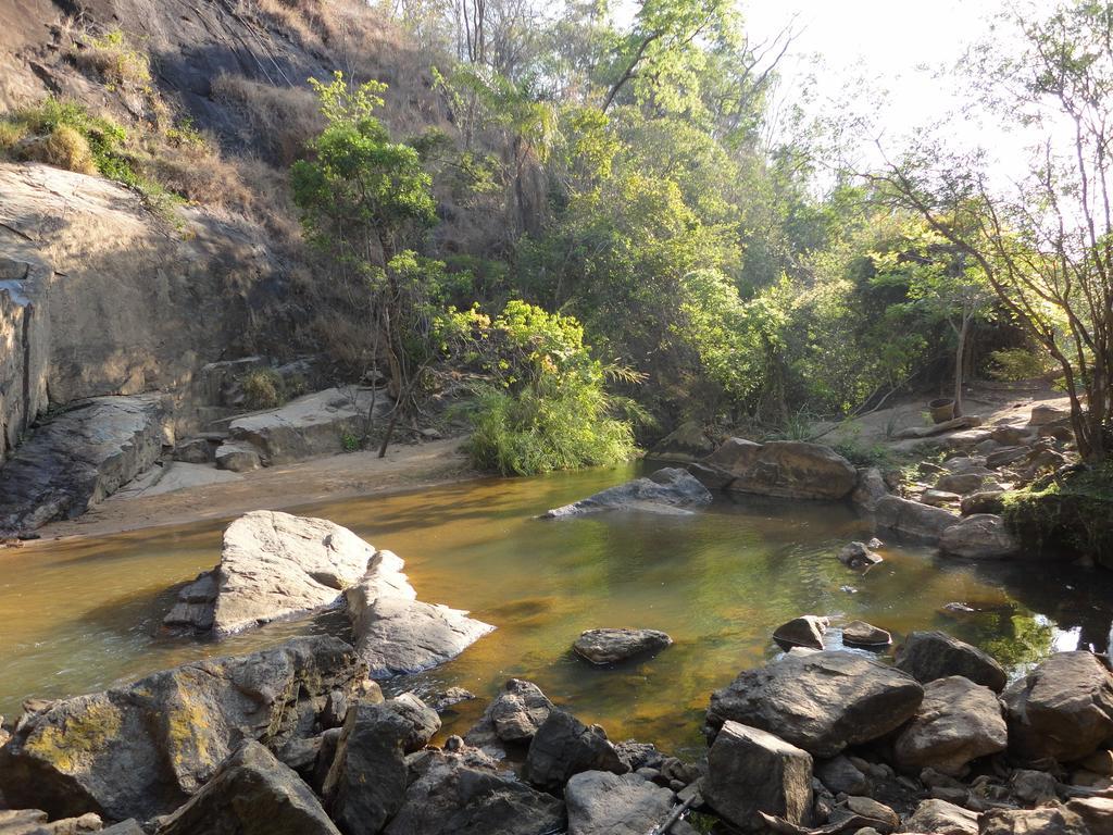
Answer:
<svg viewBox="0 0 1113 835"><path fill-rule="evenodd" d="M782 499L847 498L858 471L827 446L802 441L766 444L732 438L703 461L733 475L727 487L740 493Z"/></svg>

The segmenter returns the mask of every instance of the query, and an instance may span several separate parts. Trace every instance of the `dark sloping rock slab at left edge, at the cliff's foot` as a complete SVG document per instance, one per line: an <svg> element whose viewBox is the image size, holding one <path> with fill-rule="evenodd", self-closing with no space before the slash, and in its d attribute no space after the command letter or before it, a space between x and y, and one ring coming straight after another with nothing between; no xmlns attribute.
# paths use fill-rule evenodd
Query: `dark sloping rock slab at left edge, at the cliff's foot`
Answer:
<svg viewBox="0 0 1113 835"><path fill-rule="evenodd" d="M50 420L0 466L0 530L33 530L80 515L162 450L159 395L95 397Z"/></svg>

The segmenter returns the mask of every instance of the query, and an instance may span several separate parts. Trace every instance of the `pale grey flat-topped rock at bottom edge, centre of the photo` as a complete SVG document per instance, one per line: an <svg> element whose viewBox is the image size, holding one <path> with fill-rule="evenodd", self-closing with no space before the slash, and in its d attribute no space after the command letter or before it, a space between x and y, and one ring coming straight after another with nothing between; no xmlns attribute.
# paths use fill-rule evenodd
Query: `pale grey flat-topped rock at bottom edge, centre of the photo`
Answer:
<svg viewBox="0 0 1113 835"><path fill-rule="evenodd" d="M564 787L569 835L646 835L664 822L673 794L636 774L582 772Z"/></svg>

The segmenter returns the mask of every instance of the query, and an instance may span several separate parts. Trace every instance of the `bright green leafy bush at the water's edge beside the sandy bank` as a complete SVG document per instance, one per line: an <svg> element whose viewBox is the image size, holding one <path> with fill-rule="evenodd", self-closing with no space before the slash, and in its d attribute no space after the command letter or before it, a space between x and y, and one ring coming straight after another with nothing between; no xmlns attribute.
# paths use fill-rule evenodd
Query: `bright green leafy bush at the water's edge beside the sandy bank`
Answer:
<svg viewBox="0 0 1113 835"><path fill-rule="evenodd" d="M467 451L479 469L529 475L608 464L634 452L629 405L604 389L607 369L568 316L511 301L491 318L477 307L439 321L446 352L481 372Z"/></svg>

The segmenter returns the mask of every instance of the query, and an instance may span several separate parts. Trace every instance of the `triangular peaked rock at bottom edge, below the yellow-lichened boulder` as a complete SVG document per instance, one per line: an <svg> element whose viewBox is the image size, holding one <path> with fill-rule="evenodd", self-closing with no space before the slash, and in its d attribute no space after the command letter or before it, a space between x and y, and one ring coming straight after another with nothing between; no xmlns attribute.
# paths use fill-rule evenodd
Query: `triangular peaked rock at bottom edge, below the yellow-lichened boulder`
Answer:
<svg viewBox="0 0 1113 835"><path fill-rule="evenodd" d="M247 741L157 835L339 835L302 778Z"/></svg>

